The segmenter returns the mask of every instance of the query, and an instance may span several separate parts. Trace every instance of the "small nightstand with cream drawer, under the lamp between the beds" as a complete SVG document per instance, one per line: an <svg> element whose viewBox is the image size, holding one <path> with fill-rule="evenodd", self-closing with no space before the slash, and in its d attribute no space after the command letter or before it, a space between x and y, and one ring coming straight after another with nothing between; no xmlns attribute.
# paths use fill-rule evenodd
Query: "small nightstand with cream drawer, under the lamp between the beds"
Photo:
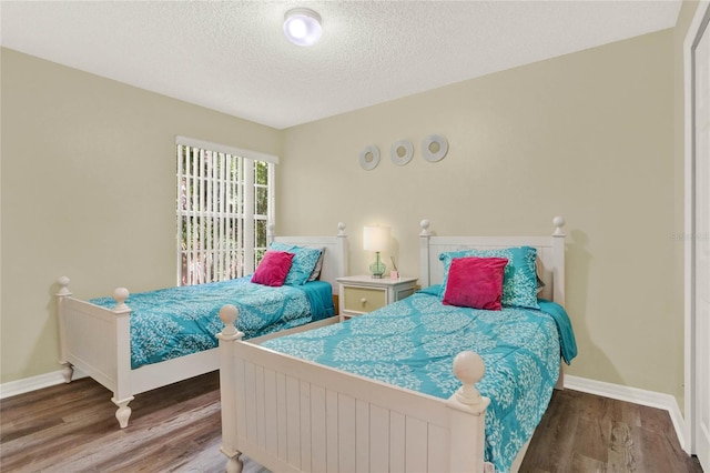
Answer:
<svg viewBox="0 0 710 473"><path fill-rule="evenodd" d="M372 312L414 294L416 278L374 279L371 275L338 278L341 322Z"/></svg>

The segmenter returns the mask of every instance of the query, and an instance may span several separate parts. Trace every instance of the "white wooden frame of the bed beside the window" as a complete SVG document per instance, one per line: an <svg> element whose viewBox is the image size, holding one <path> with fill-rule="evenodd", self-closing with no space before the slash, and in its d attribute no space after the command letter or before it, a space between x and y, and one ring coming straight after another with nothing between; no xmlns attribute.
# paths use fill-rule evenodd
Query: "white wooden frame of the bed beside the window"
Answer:
<svg viewBox="0 0 710 473"><path fill-rule="evenodd" d="M274 236L270 229L268 241L325 246L321 280L329 282L333 293L337 294L336 279L348 274L345 224L338 224L336 236ZM118 406L115 417L121 429L129 423L131 407L128 404L135 394L219 370L216 348L132 370L131 309L124 303L129 291L116 289L113 292L116 306L110 310L73 298L68 288L69 278L62 276L58 283L59 362L64 366L64 380L71 382L77 368L112 391L111 401Z"/></svg>

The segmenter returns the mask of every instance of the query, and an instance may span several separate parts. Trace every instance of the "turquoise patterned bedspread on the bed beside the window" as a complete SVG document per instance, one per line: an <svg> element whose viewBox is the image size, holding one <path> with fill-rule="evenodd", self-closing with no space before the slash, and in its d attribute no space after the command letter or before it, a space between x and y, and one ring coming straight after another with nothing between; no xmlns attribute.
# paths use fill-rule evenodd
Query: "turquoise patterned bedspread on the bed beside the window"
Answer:
<svg viewBox="0 0 710 473"><path fill-rule="evenodd" d="M125 303L132 310L131 368L216 348L215 334L224 326L219 312L224 304L239 309L236 325L245 339L335 313L332 286L327 282L271 288L250 281L251 276L244 276L130 294ZM112 298L89 302L109 309L115 306Z"/></svg>

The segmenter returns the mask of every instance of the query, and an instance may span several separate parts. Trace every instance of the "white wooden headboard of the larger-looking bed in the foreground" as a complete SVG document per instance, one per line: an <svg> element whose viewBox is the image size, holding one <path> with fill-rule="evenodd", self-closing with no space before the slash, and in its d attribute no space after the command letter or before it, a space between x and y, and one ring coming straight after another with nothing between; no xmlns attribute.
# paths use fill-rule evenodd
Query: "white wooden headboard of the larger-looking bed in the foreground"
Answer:
<svg viewBox="0 0 710 473"><path fill-rule="evenodd" d="M549 236L436 236L429 232L429 221L419 225L419 284L427 288L440 284L444 265L439 254L446 251L466 249L496 249L528 245L537 249L538 275L545 282L540 298L565 304L565 219L552 219L555 231Z"/></svg>

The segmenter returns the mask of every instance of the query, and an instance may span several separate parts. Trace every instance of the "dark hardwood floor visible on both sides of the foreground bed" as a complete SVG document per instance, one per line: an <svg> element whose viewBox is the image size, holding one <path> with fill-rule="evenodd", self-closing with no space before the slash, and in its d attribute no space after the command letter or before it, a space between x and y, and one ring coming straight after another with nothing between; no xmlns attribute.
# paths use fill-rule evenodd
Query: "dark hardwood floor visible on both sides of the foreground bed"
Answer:
<svg viewBox="0 0 710 473"><path fill-rule="evenodd" d="M1 401L0 471L224 471L216 373L135 396L123 430L110 397L82 379ZM521 471L702 472L667 412L570 390L555 392Z"/></svg>

